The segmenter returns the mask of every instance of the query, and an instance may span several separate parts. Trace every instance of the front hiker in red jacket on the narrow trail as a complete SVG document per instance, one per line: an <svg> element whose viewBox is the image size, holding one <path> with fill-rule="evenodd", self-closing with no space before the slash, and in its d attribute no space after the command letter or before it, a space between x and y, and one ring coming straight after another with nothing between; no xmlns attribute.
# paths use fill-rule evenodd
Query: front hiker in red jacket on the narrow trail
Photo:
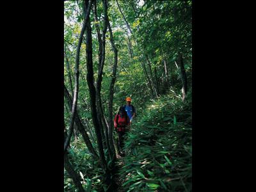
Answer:
<svg viewBox="0 0 256 192"><path fill-rule="evenodd" d="M129 116L127 115L124 107L120 107L118 113L114 119L114 127L118 134L118 153L123 154L122 148L124 148L124 135L125 132L128 130L126 129L127 125L129 124Z"/></svg>

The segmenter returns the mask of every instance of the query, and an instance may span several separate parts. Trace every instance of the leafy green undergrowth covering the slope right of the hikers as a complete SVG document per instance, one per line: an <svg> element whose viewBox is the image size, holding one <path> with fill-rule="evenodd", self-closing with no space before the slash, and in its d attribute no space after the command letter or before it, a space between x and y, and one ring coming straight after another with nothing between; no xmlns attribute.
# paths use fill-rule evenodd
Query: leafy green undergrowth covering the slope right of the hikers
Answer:
<svg viewBox="0 0 256 192"><path fill-rule="evenodd" d="M125 140L119 175L124 191L191 191L191 93L150 102Z"/></svg>

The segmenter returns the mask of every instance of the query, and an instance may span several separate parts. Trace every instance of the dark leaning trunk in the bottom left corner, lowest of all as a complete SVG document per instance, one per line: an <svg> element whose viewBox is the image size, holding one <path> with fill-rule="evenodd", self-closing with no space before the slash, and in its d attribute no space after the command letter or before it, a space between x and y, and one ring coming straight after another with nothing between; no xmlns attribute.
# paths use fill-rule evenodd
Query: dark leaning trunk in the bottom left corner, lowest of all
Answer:
<svg viewBox="0 0 256 192"><path fill-rule="evenodd" d="M64 128L65 130L65 128ZM64 141L67 139L67 132L64 131ZM69 145L68 145L68 148ZM83 186L80 182L80 177L79 175L75 172L74 168L72 167L72 164L70 163L68 159L68 150L64 152L64 168L68 172L68 175L71 177L73 180L76 188L78 189L79 192L84 192Z"/></svg>

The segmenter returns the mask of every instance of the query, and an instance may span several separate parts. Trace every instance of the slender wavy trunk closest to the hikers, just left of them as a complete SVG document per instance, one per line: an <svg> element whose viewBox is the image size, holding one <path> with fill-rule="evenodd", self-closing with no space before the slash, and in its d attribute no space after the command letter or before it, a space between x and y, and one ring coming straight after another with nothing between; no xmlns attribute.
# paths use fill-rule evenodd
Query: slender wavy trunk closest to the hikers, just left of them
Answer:
<svg viewBox="0 0 256 192"><path fill-rule="evenodd" d="M109 144L112 150L112 153L115 155L115 147L114 147L114 141L113 141L113 96L114 96L114 86L115 86L115 81L116 81L116 68L117 68L117 63L118 63L118 51L116 49L116 45L113 39L113 33L112 33L112 29L108 21L108 29L109 29L109 35L110 35L110 42L112 45L112 49L114 51L114 65L113 65L113 72L112 72L112 79L111 79L111 83L109 86L109 103L108 103L108 109L109 109ZM115 156L114 156L115 158Z"/></svg>

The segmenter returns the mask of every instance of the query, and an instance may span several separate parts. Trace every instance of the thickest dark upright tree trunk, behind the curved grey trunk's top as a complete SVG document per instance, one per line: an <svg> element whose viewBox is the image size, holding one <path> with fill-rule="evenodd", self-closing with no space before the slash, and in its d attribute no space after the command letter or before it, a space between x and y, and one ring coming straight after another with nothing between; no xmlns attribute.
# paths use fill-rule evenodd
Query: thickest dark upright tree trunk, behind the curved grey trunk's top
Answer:
<svg viewBox="0 0 256 192"><path fill-rule="evenodd" d="M88 1L86 1L86 8L88 8ZM103 168L103 170L106 170L107 168L107 163L106 159L104 156L104 150L103 150L103 145L102 145L102 136L99 124L99 119L97 115L97 109L96 109L96 90L95 86L93 84L93 60L92 60L92 28L90 24L90 17L89 17L89 22L86 23L86 66L87 66L87 83L88 83L88 88L90 92L90 99L91 99L91 111L92 111L92 121L93 125L95 128L95 133L97 136L97 143L98 143L98 148L99 148L99 154L100 154L100 164Z"/></svg>

